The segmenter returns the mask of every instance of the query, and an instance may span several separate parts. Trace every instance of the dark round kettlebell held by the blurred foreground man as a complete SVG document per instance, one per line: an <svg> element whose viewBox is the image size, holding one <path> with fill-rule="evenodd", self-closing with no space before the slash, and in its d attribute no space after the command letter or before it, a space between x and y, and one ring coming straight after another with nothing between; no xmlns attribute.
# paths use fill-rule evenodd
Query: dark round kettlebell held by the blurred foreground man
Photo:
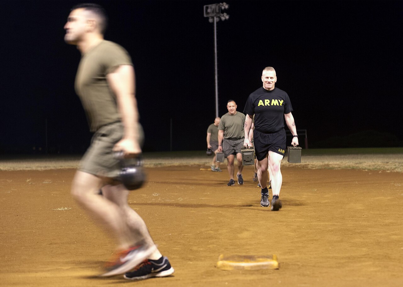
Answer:
<svg viewBox="0 0 403 287"><path fill-rule="evenodd" d="M120 172L117 179L128 190L139 189L146 180L141 155L134 158L124 158L123 152L116 152L115 157L119 160L120 164Z"/></svg>

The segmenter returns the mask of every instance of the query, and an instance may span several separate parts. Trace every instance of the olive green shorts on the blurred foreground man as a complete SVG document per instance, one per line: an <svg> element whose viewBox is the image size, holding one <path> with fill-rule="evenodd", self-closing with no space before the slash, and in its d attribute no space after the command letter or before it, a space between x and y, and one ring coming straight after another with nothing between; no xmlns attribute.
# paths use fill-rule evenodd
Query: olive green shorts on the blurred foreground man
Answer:
<svg viewBox="0 0 403 287"><path fill-rule="evenodd" d="M91 146L81 159L79 170L96 176L116 178L120 165L112 149L122 137L123 123L121 122L110 123L98 129L91 139ZM140 146L143 138L143 129L139 125Z"/></svg>

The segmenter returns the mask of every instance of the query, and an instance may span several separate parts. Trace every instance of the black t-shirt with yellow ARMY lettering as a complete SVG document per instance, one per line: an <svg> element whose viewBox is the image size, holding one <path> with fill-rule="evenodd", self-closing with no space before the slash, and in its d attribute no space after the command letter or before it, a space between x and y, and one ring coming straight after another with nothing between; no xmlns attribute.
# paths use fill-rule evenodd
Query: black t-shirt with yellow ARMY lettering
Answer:
<svg viewBox="0 0 403 287"><path fill-rule="evenodd" d="M262 133L275 133L284 128L284 114L291 113L288 94L274 88L268 91L263 87L251 93L246 101L243 113L249 117L255 115L255 129Z"/></svg>

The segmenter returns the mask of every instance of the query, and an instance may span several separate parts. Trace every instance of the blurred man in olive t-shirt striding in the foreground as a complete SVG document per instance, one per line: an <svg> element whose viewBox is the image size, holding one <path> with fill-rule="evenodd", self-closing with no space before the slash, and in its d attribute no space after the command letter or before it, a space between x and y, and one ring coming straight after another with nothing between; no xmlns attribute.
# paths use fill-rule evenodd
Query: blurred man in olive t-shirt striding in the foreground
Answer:
<svg viewBox="0 0 403 287"><path fill-rule="evenodd" d="M158 251L143 219L129 206L129 190L116 178L120 168L114 152L133 157L141 148L133 64L123 47L104 40L106 19L101 6L79 4L71 9L64 25L64 41L81 52L75 89L95 132L74 176L71 193L117 240L120 251L102 276L168 276L173 268ZM145 261L147 264L139 265ZM148 266L155 266L156 272Z"/></svg>

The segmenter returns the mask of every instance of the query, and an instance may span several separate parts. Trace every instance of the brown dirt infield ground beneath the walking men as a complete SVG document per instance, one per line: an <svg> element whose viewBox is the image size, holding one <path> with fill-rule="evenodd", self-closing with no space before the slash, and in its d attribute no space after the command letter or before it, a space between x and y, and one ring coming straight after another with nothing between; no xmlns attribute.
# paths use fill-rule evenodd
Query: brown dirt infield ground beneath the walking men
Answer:
<svg viewBox="0 0 403 287"><path fill-rule="evenodd" d="M200 167L147 168L131 193L175 269L139 282L96 277L114 244L71 198L75 169L0 171L0 285L403 286L403 173L284 166L272 212L253 167L233 187ZM222 271L220 254L276 254L280 268Z"/></svg>

